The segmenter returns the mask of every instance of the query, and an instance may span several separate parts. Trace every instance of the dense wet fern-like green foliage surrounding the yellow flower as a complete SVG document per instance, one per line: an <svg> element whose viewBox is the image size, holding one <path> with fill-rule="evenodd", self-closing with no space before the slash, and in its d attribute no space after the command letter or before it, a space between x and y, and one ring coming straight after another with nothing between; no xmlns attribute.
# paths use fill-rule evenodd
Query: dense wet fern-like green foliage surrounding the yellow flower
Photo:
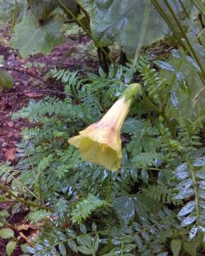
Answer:
<svg viewBox="0 0 205 256"><path fill-rule="evenodd" d="M35 127L21 132L17 144L20 160L16 166L1 164L0 177L11 185L14 194L9 195L20 201L18 208L21 203L32 207L28 221L44 223L33 247L27 248L31 254L204 254L205 73L200 43L204 31L194 33L192 26L201 25L186 10L187 18L182 18L187 28L180 26L174 8L183 13L183 4L189 1L162 2L167 25L172 16L170 29L178 40L183 38L178 42L182 48L172 50L172 58L155 62L137 58L136 63L125 66L110 65L107 74L99 68L99 74L89 73L85 78L77 71L50 70L65 86L65 97L31 100L13 114L13 119L28 119ZM118 10L113 9L114 4L122 6L121 1L95 3L95 11L104 9L102 16ZM111 4L109 9L106 4ZM201 8L198 1L193 4ZM111 29L113 26L119 28L118 23L112 23ZM135 73L142 90L121 131L122 166L119 171L107 171L84 161L67 139L101 119L136 81ZM2 200L7 197L5 193ZM3 230L7 215L0 212Z"/></svg>

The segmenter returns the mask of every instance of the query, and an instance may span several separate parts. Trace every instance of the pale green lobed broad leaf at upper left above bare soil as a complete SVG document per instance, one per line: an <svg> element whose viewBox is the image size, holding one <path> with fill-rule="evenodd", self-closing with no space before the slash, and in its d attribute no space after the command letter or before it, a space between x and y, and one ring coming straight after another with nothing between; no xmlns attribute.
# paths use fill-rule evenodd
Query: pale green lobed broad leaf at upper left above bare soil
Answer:
<svg viewBox="0 0 205 256"><path fill-rule="evenodd" d="M14 28L11 47L18 49L23 58L35 53L48 54L54 46L62 43L62 21L51 18L38 23L29 13Z"/></svg>

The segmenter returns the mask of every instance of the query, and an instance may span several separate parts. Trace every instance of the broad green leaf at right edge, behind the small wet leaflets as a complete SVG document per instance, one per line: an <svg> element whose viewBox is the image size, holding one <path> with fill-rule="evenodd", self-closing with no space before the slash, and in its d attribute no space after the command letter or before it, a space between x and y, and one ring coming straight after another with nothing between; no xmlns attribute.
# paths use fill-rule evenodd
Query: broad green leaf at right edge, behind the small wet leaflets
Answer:
<svg viewBox="0 0 205 256"><path fill-rule="evenodd" d="M174 66L175 73L170 73L167 70L161 71L161 77L167 79L170 84L172 94L167 99L166 114L167 117L177 119L179 124L184 124L185 119L193 117L205 102L205 89L199 77L199 66L189 56L184 55L181 51L182 58L173 58L167 60L167 63ZM201 64L204 66L204 60L201 58ZM188 64L189 63L189 64ZM174 99L177 99L177 104L173 105Z"/></svg>

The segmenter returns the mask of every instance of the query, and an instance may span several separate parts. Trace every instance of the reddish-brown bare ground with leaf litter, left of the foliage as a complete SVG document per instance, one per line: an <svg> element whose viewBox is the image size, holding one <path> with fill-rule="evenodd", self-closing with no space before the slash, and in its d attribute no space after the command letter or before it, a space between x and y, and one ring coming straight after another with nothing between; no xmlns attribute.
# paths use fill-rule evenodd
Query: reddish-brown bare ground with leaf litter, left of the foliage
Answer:
<svg viewBox="0 0 205 256"><path fill-rule="evenodd" d="M9 40L9 33L1 31L1 36ZM12 90L0 92L0 163L9 161L15 164L18 161L16 144L21 139L23 127L32 127L33 124L24 119L12 120L13 112L28 105L30 100L40 100L48 95L64 97L63 87L56 80L44 79L52 68L80 70L84 73L96 70L96 58L89 54L90 40L87 36L77 35L66 38L64 45L56 46L49 55L38 54L27 60L21 58L16 50L0 42L0 55L4 56L5 63L0 70L5 69L13 77ZM84 54L84 51L86 53ZM74 53L74 54L72 54ZM63 62L62 62L63 60ZM0 194L2 191L0 191ZM0 203L0 210L11 208L11 203ZM15 213L9 218L12 228L25 228L26 212ZM27 242L28 233L35 233L35 228L26 226L26 230L17 230L16 235L21 236L22 243ZM24 240L24 241L23 241ZM0 256L6 255L6 243L9 240L0 240ZM20 243L19 243L20 244ZM17 247L12 256L21 255L21 248Z"/></svg>

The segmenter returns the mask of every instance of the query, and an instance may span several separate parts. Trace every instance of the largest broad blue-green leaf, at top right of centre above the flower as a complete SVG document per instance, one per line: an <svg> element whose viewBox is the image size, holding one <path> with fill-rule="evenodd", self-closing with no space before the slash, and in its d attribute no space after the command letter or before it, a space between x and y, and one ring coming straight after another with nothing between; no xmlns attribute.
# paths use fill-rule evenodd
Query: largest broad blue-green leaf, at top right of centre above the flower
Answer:
<svg viewBox="0 0 205 256"><path fill-rule="evenodd" d="M159 2L162 9L167 11L164 1ZM180 14L182 18L183 11L179 2L176 0L169 2L174 12ZM169 31L150 0L92 0L92 3L93 36L102 46L118 43L123 47L128 58L134 58L137 48L158 41ZM192 1L184 0L182 3L189 12ZM172 22L175 25L173 19Z"/></svg>

